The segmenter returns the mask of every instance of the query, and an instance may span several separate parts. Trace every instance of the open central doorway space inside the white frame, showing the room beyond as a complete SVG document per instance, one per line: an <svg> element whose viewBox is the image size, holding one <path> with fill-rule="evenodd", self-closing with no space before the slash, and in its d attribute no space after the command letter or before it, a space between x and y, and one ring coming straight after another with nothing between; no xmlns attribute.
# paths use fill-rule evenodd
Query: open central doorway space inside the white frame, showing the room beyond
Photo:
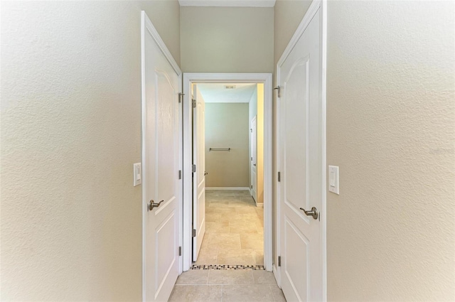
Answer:
<svg viewBox="0 0 455 302"><path fill-rule="evenodd" d="M264 265L264 84L193 82L193 265Z"/></svg>

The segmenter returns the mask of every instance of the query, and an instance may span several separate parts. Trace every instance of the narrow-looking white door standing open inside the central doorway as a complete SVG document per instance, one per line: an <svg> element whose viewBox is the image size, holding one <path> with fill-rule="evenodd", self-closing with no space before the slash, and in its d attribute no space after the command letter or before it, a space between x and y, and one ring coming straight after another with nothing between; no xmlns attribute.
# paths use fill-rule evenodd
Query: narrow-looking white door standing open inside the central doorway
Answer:
<svg viewBox="0 0 455 302"><path fill-rule="evenodd" d="M196 233L193 261L196 261L205 234L205 102L197 85L193 89L193 104L193 165L196 165L193 172L193 232Z"/></svg>

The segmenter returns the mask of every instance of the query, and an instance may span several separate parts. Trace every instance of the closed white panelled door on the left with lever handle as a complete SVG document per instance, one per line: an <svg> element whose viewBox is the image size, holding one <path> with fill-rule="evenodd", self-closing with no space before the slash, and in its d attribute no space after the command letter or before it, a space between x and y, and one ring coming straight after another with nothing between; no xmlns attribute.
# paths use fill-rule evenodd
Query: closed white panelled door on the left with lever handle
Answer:
<svg viewBox="0 0 455 302"><path fill-rule="evenodd" d="M154 31L142 12L143 294L144 301L167 301L178 276L178 74Z"/></svg>

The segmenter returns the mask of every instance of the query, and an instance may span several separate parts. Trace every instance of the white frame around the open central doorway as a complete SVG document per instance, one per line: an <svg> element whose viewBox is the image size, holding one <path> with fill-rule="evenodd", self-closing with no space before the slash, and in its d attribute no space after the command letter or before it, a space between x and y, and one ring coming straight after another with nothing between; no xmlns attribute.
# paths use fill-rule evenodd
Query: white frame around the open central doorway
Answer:
<svg viewBox="0 0 455 302"><path fill-rule="evenodd" d="M191 82L264 83L264 267L272 271L272 74L183 73L183 271L191 267Z"/></svg>

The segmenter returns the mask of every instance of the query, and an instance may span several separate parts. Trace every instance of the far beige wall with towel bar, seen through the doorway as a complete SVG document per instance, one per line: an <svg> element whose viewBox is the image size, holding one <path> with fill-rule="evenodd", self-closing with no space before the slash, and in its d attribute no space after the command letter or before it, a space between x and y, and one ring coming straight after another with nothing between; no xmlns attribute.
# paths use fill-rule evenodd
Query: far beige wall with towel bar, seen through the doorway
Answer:
<svg viewBox="0 0 455 302"><path fill-rule="evenodd" d="M248 129L247 103L205 103L205 186L248 187Z"/></svg>

